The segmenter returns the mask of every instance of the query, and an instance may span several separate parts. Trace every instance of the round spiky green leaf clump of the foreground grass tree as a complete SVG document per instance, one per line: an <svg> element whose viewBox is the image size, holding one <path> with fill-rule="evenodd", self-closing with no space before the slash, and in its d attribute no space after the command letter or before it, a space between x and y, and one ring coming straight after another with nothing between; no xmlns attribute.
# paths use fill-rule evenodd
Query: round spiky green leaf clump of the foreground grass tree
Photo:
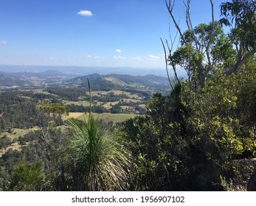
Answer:
<svg viewBox="0 0 256 206"><path fill-rule="evenodd" d="M84 126L71 123L73 138L68 158L77 191L122 191L131 171L131 153L125 140L89 117Z"/></svg>

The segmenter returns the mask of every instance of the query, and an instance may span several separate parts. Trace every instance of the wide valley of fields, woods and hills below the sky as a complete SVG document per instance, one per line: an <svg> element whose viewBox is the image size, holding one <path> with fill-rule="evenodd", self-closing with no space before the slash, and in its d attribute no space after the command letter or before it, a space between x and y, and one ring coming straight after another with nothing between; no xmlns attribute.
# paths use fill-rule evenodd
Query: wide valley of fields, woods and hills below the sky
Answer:
<svg viewBox="0 0 256 206"><path fill-rule="evenodd" d="M69 119L88 118L88 80L92 115L114 124L144 115L153 93L165 93L168 88L166 77L153 74L132 76L103 72L80 76L65 69L18 71L18 68L21 67L4 69L0 65L0 156L8 149L21 151L22 145L30 142L27 136L41 127L39 118L44 118L38 110L42 101L66 108L67 113L58 119L58 127L66 127Z"/></svg>

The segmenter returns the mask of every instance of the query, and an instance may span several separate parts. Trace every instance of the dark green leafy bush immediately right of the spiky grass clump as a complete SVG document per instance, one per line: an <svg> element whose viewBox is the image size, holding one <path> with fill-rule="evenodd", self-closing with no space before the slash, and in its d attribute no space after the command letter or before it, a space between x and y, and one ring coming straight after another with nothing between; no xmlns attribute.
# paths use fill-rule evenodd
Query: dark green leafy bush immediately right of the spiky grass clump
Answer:
<svg viewBox="0 0 256 206"><path fill-rule="evenodd" d="M131 190L180 190L181 180L186 179L182 159L189 155L183 125L187 110L180 99L181 85L174 88L170 96L156 93L147 104L146 116L125 121L122 126L136 157Z"/></svg>

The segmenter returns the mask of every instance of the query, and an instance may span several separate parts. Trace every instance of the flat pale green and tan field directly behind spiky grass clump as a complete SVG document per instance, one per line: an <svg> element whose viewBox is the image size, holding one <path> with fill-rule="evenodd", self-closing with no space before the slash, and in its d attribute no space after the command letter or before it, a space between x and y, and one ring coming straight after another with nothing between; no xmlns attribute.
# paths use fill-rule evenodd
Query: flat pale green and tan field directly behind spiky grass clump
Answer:
<svg viewBox="0 0 256 206"><path fill-rule="evenodd" d="M137 116L135 114L122 114L122 113L118 113L118 114L92 113L92 115L94 116L94 118L99 118L105 121L113 121L113 122L121 122ZM86 114L86 118L88 117L89 117L89 113ZM84 113L69 113L69 116L63 116L63 120L66 120L68 118L77 118L77 119L83 120Z"/></svg>

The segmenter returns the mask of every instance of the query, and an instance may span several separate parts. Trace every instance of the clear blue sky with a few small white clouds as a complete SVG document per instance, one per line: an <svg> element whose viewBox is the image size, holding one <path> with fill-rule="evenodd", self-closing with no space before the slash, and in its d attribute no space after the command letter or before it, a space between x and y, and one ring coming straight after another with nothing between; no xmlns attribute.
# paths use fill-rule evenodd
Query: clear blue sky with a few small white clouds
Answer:
<svg viewBox="0 0 256 206"><path fill-rule="evenodd" d="M182 0L174 15L184 31ZM191 17L209 23L210 1L191 0ZM0 0L0 65L164 68L169 31L165 0Z"/></svg>

